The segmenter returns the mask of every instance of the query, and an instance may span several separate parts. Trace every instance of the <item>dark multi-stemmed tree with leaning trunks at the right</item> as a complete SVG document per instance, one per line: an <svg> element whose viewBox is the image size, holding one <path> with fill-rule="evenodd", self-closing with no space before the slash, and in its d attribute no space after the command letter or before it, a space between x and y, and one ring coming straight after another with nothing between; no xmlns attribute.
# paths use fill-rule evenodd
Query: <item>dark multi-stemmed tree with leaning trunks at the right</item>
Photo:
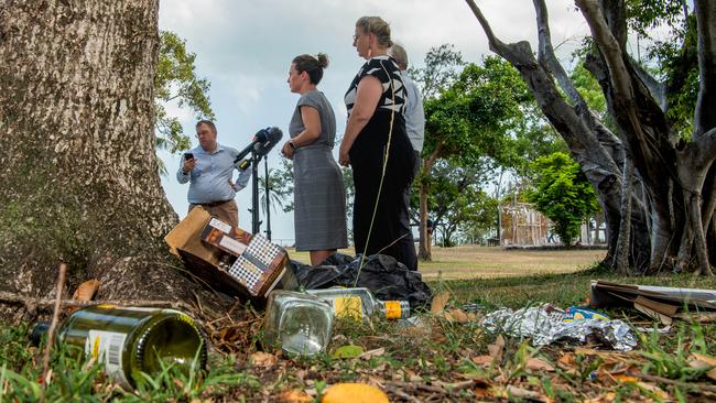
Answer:
<svg viewBox="0 0 716 403"><path fill-rule="evenodd" d="M475 2L466 1L490 48L517 67L598 192L608 228L605 263L622 272L630 268L657 272L695 262L697 273L712 273L710 264L716 262L716 115L710 111L716 101L716 3L695 0L690 11L682 1L668 2L681 8L665 9L659 8L663 1L639 2L639 8L653 12L649 14L653 23L670 30L670 41L679 46L668 56L680 63L654 61L661 73L654 76L628 53L629 26L634 21L642 26L652 23L634 13L634 2L575 1L592 32L585 66L607 100L616 128L610 130L593 113L554 55L543 0L533 1L538 58L527 42L498 40ZM688 18L683 18L684 9ZM688 72L694 68L698 90L688 119L693 130L684 133L671 115L672 106L674 99L693 99ZM619 255L628 259L616 259Z"/></svg>

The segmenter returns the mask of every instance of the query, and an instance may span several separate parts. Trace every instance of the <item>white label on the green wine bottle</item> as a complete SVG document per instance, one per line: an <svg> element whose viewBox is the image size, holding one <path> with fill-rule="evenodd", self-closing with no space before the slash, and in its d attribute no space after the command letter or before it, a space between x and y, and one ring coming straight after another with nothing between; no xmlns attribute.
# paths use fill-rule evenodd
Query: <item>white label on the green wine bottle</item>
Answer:
<svg viewBox="0 0 716 403"><path fill-rule="evenodd" d="M117 331L89 330L85 341L85 353L105 364L105 372L122 386L131 388L122 371L122 349L127 334Z"/></svg>

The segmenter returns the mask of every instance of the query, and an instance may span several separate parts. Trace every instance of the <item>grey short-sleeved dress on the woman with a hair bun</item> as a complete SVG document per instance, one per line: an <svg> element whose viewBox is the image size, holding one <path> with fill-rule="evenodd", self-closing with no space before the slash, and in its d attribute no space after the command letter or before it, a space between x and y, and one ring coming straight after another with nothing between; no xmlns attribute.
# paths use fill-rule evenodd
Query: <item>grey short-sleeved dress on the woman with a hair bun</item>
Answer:
<svg viewBox="0 0 716 403"><path fill-rule="evenodd" d="M323 92L306 92L299 99L289 124L292 139L305 129L302 106L318 110L321 137L312 144L297 148L293 154L295 248L301 251L346 248L346 194L332 152L336 117Z"/></svg>

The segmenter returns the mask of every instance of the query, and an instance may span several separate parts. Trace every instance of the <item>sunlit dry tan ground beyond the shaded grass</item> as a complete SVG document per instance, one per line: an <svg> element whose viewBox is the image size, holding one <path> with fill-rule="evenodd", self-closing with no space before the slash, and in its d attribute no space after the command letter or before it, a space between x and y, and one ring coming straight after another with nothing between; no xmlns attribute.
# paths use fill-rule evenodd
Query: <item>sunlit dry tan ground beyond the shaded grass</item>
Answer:
<svg viewBox="0 0 716 403"><path fill-rule="evenodd" d="M340 250L354 254L352 249ZM433 247L433 261L419 262L423 280L506 277L543 273L568 273L604 259L606 250L506 250L500 247ZM307 252L289 250L291 259L308 263Z"/></svg>

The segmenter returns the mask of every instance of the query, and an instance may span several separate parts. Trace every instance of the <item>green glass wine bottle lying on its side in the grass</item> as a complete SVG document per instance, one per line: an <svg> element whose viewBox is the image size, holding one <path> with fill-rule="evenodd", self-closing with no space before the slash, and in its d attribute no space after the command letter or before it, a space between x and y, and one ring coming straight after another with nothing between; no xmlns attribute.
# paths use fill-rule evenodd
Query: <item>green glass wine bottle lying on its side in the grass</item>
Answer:
<svg viewBox="0 0 716 403"><path fill-rule="evenodd" d="M37 325L40 331L46 325ZM33 336L37 337L35 331ZM194 320L175 309L95 305L73 313L56 342L94 357L105 372L131 390L141 379L172 364L188 373L206 366L207 346ZM198 359L195 361L195 359Z"/></svg>

